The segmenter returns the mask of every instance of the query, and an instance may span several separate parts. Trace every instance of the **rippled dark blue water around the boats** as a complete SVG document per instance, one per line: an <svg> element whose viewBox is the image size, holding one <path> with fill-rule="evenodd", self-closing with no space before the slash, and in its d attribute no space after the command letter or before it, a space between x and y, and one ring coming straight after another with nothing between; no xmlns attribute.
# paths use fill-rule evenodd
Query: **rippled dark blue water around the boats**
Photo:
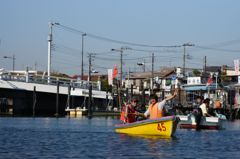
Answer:
<svg viewBox="0 0 240 159"><path fill-rule="evenodd" d="M177 129L173 138L114 132L117 119L0 118L0 158L239 158L240 121L224 130Z"/></svg>

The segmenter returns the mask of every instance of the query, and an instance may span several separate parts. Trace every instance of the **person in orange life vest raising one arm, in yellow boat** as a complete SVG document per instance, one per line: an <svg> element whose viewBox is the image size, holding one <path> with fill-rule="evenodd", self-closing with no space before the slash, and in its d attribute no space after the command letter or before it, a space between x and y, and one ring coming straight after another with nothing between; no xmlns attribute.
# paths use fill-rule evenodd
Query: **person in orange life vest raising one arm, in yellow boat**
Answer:
<svg viewBox="0 0 240 159"><path fill-rule="evenodd" d="M164 117L166 114L165 104L166 101L171 100L177 96L177 90L174 91L174 94L165 98L161 102L158 102L158 97L155 94L150 95L150 105L144 116L149 119L156 119Z"/></svg>

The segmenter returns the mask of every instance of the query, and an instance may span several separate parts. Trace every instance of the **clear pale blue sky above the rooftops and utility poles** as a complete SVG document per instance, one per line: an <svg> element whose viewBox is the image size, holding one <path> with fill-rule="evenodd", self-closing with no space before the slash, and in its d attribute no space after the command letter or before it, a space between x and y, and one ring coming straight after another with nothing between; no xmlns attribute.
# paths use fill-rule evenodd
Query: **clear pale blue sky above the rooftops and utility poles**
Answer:
<svg viewBox="0 0 240 159"><path fill-rule="evenodd" d="M143 61L146 71L151 70L153 52L155 70L183 65L183 47L116 41L148 46L191 43L195 46L186 47L191 57L186 67L202 68L204 56L207 65L233 66L240 58L239 15L238 0L1 0L0 68L11 70L12 60L3 56L14 54L15 70L29 66L46 71L50 21L61 24L53 26L52 69L70 75L81 72L81 32L87 33L85 72L87 53L96 53L93 67L102 74L119 66L119 52L110 50L121 47L131 48L123 53L124 71L141 71L137 63Z"/></svg>

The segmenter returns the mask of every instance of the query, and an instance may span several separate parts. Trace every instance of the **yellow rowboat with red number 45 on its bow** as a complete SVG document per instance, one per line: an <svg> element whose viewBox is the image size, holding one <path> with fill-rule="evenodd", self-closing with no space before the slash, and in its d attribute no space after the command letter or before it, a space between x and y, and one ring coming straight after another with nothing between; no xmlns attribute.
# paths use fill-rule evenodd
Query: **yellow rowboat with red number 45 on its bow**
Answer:
<svg viewBox="0 0 240 159"><path fill-rule="evenodd" d="M171 137L176 131L179 119L176 116L137 121L134 123L117 124L117 133L131 135L155 135Z"/></svg>

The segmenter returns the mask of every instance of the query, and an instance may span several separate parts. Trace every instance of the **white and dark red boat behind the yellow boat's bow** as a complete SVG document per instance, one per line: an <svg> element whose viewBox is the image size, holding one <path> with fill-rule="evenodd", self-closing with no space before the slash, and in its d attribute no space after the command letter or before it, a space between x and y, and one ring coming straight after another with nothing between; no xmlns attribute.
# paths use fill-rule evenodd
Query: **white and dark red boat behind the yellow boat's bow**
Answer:
<svg viewBox="0 0 240 159"><path fill-rule="evenodd" d="M179 127L183 129L221 129L222 119L219 117L201 117L200 124L197 125L194 115L178 115Z"/></svg>

